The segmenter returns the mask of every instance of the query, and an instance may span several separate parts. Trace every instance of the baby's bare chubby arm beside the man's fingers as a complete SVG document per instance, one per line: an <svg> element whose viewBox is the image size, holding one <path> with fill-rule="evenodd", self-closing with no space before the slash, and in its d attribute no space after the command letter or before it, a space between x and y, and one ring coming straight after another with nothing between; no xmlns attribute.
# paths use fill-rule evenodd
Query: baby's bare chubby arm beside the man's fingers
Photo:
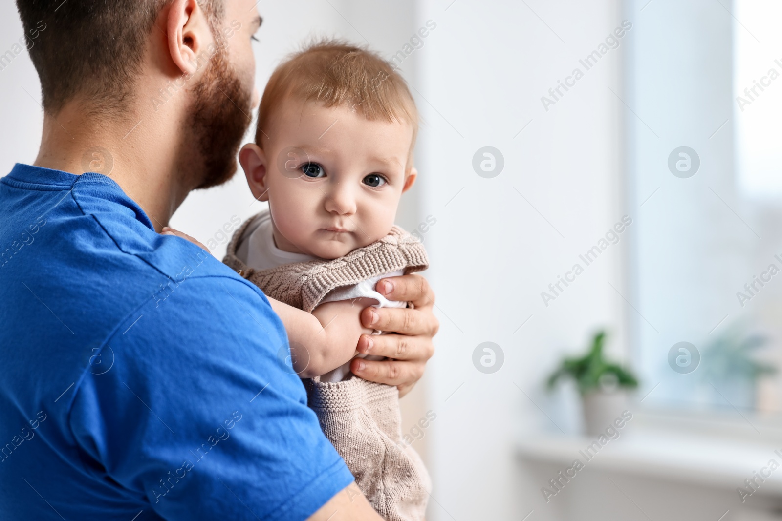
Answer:
<svg viewBox="0 0 782 521"><path fill-rule="evenodd" d="M361 334L372 330L361 325L361 312L375 304L371 298L326 302L308 313L269 298L288 332L293 369L302 378L328 373L357 354ZM306 353L296 352L303 348Z"/></svg>

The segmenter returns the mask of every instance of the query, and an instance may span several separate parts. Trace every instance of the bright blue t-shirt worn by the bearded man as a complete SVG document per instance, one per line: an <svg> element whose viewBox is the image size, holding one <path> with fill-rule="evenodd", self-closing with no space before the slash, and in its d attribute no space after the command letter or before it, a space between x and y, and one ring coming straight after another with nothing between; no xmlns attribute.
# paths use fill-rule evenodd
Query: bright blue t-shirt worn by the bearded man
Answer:
<svg viewBox="0 0 782 521"><path fill-rule="evenodd" d="M264 294L109 177L0 179L0 298L0 519L306 519L353 481Z"/></svg>

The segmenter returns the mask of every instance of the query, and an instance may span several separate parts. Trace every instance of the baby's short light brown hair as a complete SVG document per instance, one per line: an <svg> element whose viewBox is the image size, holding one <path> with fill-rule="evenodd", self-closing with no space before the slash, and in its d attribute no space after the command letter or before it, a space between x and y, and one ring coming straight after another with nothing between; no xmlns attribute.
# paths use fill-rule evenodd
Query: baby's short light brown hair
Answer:
<svg viewBox="0 0 782 521"><path fill-rule="evenodd" d="M328 39L290 55L271 74L260 101L255 138L260 148L264 148L263 137L268 137L274 110L286 98L328 108L348 107L371 121L409 123L413 141L408 166L412 164L418 109L404 78L377 53Z"/></svg>

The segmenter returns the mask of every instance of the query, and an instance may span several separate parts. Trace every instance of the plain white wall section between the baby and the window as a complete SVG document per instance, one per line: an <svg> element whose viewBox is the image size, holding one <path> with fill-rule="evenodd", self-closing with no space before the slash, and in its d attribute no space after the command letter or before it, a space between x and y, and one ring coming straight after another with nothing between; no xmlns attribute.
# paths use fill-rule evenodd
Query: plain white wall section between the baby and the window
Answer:
<svg viewBox="0 0 782 521"><path fill-rule="evenodd" d="M608 283L624 292L622 244L632 226L556 301L546 307L540 297L625 213L618 146L624 105L609 90L622 96L622 47L548 112L540 101L619 26L618 3L419 6L418 25L438 24L418 51L415 85L427 120L419 142L422 214L437 218L425 244L442 323L430 368L430 407L438 414L428 433L432 519L522 519L533 509L530 519L563 519L540 494L551 476L515 458L515 439L519 431L559 433L540 409L565 432L578 428L565 394L541 391L562 351L582 349L599 326L611 330L612 350L626 348L626 304ZM630 37L632 31L622 42ZM473 154L486 145L505 159L493 179L472 169ZM504 350L497 373L472 364L483 341Z"/></svg>

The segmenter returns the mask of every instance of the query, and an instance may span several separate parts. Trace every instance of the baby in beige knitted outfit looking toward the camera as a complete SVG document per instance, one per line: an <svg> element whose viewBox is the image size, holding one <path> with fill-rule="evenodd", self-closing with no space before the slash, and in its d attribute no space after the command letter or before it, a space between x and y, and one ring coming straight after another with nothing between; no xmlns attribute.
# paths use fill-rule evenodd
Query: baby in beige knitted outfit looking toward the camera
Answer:
<svg viewBox="0 0 782 521"><path fill-rule="evenodd" d="M428 266L393 224L417 175L417 131L407 85L378 55L335 41L292 55L264 91L256 144L239 153L269 209L237 230L224 259L267 294L321 428L375 510L400 521L423 519L429 475L401 440L396 387L353 377L349 364L361 334L378 333L361 311L406 305L375 283Z"/></svg>

